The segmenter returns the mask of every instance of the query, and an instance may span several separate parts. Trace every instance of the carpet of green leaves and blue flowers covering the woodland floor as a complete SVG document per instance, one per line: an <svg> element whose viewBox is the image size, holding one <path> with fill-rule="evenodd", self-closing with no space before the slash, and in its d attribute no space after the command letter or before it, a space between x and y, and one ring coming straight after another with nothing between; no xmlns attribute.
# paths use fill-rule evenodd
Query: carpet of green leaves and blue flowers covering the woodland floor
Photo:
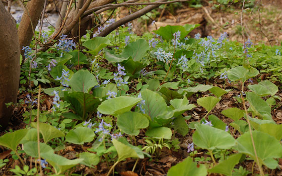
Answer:
<svg viewBox="0 0 282 176"><path fill-rule="evenodd" d="M22 98L7 104L25 108L23 127L0 137L11 154L1 171L277 174L281 46L229 41L227 33L189 37L198 26L137 36L128 23L106 37L90 31L78 44L61 35L36 57L34 43L23 47Z"/></svg>

